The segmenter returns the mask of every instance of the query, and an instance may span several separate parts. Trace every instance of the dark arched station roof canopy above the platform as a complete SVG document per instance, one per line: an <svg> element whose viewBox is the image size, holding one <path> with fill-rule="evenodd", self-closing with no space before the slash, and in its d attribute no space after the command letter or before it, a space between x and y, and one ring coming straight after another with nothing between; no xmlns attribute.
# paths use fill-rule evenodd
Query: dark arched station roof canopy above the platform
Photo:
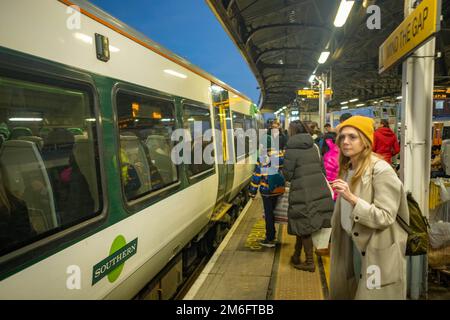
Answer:
<svg viewBox="0 0 450 320"><path fill-rule="evenodd" d="M297 90L310 86L314 71L328 73L331 79L330 106L345 99L366 101L401 92L400 68L378 74L378 48L403 20L402 0L355 1L342 28L334 26L340 0L207 2L255 74L263 111L293 103ZM367 27L371 16L367 8L373 4L381 9L379 30ZM319 65L327 47L331 55Z"/></svg>

